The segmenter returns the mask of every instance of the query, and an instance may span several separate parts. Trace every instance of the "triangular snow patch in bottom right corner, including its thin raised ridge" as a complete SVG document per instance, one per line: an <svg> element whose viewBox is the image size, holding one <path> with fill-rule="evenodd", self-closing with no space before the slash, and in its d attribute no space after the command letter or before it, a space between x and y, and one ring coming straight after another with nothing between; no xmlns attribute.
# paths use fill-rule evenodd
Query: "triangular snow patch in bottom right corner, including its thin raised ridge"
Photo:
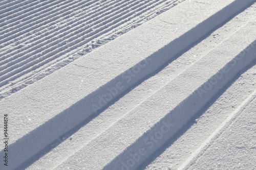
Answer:
<svg viewBox="0 0 256 170"><path fill-rule="evenodd" d="M209 165L220 169L230 167L254 168L256 163L254 159L255 152L253 152L253 149L255 149L253 145L253 136L255 133L255 122L253 119L256 111L255 94L256 90L254 90L248 98L224 120L216 131L204 141L202 147L200 146L198 148L199 151L202 151L204 148L204 155L202 156L201 154L198 156L197 162L191 163L193 166L184 162L185 165L190 166L188 169L205 169L209 167ZM239 114L239 116L237 114ZM212 140L214 137L215 140ZM227 145L227 143L230 144ZM195 155L198 152L196 151L192 157L196 157ZM251 157L248 157L248 155L251 155ZM180 168L183 168L182 166Z"/></svg>

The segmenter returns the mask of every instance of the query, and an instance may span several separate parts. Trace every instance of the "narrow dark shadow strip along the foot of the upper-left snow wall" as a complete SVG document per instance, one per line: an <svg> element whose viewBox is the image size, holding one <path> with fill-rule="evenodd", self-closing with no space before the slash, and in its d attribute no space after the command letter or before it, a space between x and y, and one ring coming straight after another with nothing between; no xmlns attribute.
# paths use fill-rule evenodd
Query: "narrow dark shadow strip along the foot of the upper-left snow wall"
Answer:
<svg viewBox="0 0 256 170"><path fill-rule="evenodd" d="M127 93L129 93L132 89L134 89L135 87L137 87L138 85L140 85L142 82L144 82L145 80L155 76L156 74L158 74L158 72L160 72L161 70L163 70L168 64L172 63L174 60L176 60L177 58L179 58L181 55L183 55L185 52L189 51L192 47L194 47L195 45L199 44L202 40L204 40L205 38L207 38L208 36L210 36L214 31L216 31L217 29L221 28L222 26L225 25L226 22L230 21L234 16L238 15L239 13L243 12L244 10L246 10L248 7L250 7L252 4L254 4L254 2L250 3L248 6L246 6L245 8L243 8L242 10L240 10L239 12L233 14L231 17L229 17L228 19L226 19L224 22L222 22L220 25L218 25L217 27L215 27L214 29L212 29L211 31L209 31L207 34L205 34L204 36L202 36L202 38L200 38L199 40L195 41L193 44L189 45L188 47L186 47L183 51L179 52L175 57L173 57L172 59L168 60L167 62L165 62L163 65L161 65L158 69L156 69L155 71L151 72L151 74L148 74L147 76L145 76L143 79L141 79L140 81L138 81L137 83L133 84L132 86L130 86L129 88L127 88L124 92L120 93L115 99L113 99L111 102L109 102L107 105L105 105L104 107L102 107L102 109L97 111L97 114L92 114L90 115L88 118L84 119L80 124L78 124L76 127L70 129L68 132L62 134L59 136L58 139L54 140L52 143L50 143L49 145L47 145L47 147L45 147L44 149L40 150L39 152L37 152L35 155L33 155L30 159L28 159L27 161L25 161L24 163L20 164L16 169L26 169L27 167L29 167L31 164L33 164L35 161L39 160L40 157L46 155L48 152L50 152L53 148L51 147L52 145L54 145L54 148L57 147L58 144L60 144L62 142L62 138L69 138L72 134L76 133L81 127L83 127L84 125L87 125L92 119L94 119L95 117L97 117L99 114L101 114L105 109L109 108L111 105L113 105L115 102L117 102L119 99L123 98L123 96ZM81 102L77 102L76 104L73 105L73 107L75 107L76 105L79 105ZM60 116L61 114L59 114L58 116ZM184 129L183 129L184 130ZM24 136L26 137L26 135ZM150 157L151 158L151 157ZM153 158L148 158L145 160L145 164L146 162L148 162L147 160L152 160ZM155 158L154 158L155 159ZM143 163L144 164L144 163ZM140 166L142 168L142 166Z"/></svg>

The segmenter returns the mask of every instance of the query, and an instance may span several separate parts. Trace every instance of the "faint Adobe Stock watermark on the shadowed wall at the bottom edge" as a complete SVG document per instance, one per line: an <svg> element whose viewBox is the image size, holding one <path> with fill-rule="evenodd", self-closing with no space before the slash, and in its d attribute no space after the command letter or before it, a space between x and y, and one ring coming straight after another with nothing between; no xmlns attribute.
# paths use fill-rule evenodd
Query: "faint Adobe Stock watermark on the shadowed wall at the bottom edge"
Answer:
<svg viewBox="0 0 256 170"><path fill-rule="evenodd" d="M158 131L148 134L144 138L144 146L138 149L138 152L130 153L130 158L121 162L121 170L130 170L136 163L139 163L141 157L146 156L148 150L153 149L154 145L161 141L164 134L168 133L172 127L174 127L174 124L167 123L163 120Z"/></svg>

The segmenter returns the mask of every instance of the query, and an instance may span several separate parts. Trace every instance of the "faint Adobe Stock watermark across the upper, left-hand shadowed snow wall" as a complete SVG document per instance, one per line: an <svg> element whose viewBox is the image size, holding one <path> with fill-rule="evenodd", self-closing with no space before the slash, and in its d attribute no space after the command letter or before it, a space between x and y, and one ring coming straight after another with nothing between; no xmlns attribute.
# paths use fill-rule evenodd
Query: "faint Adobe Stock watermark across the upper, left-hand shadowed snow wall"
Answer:
<svg viewBox="0 0 256 170"><path fill-rule="evenodd" d="M98 95L98 102L91 105L95 114L98 110L101 110L108 102L112 101L118 95L118 92L123 90L127 83L130 83L132 79L135 79L136 76L141 72L142 69L145 69L149 65L149 62L152 59L146 58L133 66L132 68L126 70L121 74L121 80L115 83L113 87L107 87L104 94Z"/></svg>

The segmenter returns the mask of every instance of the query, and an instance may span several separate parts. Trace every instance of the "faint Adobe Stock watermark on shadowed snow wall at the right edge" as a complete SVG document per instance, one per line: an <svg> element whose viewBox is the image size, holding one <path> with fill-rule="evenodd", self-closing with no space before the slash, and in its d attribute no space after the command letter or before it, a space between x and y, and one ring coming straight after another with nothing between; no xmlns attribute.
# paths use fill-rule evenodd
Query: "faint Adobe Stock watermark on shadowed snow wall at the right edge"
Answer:
<svg viewBox="0 0 256 170"><path fill-rule="evenodd" d="M252 42L249 46L245 48L236 58L232 60L231 66L238 64L238 61L241 60L250 50L256 47L256 41ZM206 83L204 83L198 90L198 94L200 98L203 98L203 94L206 94L207 91L211 90L218 81L223 79L223 76L227 74L227 72L230 71L229 66L225 66L223 69L218 71L218 73L214 76L212 76Z"/></svg>

